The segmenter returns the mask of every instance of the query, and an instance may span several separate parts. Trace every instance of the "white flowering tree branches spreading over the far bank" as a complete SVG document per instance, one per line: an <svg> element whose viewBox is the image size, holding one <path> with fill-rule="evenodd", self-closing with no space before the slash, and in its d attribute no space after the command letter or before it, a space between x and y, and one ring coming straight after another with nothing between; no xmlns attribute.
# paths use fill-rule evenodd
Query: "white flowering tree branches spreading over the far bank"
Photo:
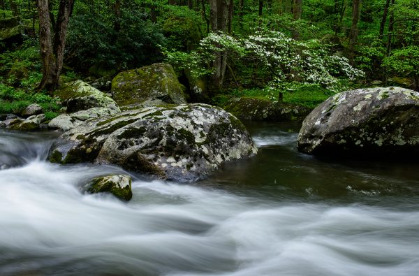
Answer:
<svg viewBox="0 0 419 276"><path fill-rule="evenodd" d="M189 68L198 76L213 73L210 64L217 58L216 52L228 56L237 75L250 64L258 68L263 73L265 90L272 96L303 85L319 85L336 91L341 89L342 82L364 75L353 68L348 59L330 55L327 45L316 40L295 41L278 31L255 31L246 38L210 34L189 54L166 52L166 55L173 65Z"/></svg>

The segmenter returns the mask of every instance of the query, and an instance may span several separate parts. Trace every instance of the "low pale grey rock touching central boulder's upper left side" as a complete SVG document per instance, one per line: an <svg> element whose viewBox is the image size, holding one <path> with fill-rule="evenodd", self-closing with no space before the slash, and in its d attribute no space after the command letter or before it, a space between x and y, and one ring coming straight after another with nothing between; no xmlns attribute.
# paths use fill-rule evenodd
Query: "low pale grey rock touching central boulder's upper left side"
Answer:
<svg viewBox="0 0 419 276"><path fill-rule="evenodd" d="M48 123L48 128L68 131L82 124L87 119L115 114L117 114L117 110L110 108L89 108L88 110L80 110L71 114L61 114Z"/></svg>

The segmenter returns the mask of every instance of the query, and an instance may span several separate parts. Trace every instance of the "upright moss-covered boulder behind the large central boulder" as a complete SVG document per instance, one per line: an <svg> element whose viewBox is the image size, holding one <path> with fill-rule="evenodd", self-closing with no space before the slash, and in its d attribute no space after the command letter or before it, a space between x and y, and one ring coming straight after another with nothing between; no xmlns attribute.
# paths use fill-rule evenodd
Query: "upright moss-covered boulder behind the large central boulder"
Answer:
<svg viewBox="0 0 419 276"><path fill-rule="evenodd" d="M119 106L152 99L186 103L182 85L169 64L152 64L121 72L112 80L111 92Z"/></svg>

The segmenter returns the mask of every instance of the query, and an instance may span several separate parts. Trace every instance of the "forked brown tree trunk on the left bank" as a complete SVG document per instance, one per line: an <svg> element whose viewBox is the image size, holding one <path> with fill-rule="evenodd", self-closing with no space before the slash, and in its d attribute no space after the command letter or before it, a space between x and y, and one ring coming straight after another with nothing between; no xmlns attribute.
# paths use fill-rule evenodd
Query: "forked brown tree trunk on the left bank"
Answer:
<svg viewBox="0 0 419 276"><path fill-rule="evenodd" d="M63 67L68 20L73 13L74 0L60 0L54 34L51 31L48 0L38 0L39 42L43 64L43 78L38 89L52 91L59 86Z"/></svg>

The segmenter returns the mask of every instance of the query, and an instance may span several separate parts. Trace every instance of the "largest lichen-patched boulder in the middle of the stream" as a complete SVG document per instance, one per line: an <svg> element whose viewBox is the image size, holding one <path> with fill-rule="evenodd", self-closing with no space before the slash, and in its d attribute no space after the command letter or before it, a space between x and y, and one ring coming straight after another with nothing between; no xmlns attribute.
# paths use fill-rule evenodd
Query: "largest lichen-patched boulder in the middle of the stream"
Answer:
<svg viewBox="0 0 419 276"><path fill-rule="evenodd" d="M57 140L50 161L117 164L163 179L189 181L256 152L251 136L233 115L191 104L89 119Z"/></svg>

